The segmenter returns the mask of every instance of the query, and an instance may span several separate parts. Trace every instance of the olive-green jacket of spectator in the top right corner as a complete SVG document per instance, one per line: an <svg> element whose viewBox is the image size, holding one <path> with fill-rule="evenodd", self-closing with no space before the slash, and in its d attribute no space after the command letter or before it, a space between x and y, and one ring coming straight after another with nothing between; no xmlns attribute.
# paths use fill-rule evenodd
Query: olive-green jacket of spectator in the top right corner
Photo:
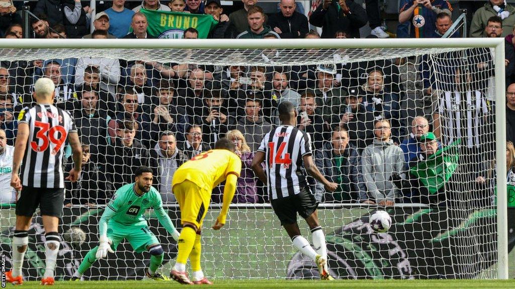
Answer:
<svg viewBox="0 0 515 289"><path fill-rule="evenodd" d="M511 34L511 29L515 25L515 8L509 4L504 9L510 12L508 18L503 20L503 38ZM492 4L487 2L483 7L477 9L472 17L472 23L470 24L470 37L487 37L485 28L488 23L488 19L492 16L497 16L497 12L493 10Z"/></svg>

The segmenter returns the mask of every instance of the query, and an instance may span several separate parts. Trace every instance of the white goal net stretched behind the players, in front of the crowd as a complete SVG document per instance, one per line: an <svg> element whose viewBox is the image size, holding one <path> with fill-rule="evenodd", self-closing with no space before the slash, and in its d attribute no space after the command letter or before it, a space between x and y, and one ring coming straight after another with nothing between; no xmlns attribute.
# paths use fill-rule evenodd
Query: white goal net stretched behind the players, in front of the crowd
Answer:
<svg viewBox="0 0 515 289"><path fill-rule="evenodd" d="M285 44L273 41L245 46L235 41L234 48L221 42L210 48L202 41L191 42L192 47L204 48L188 48L177 40L125 42L126 48L98 40L21 43L26 46L0 48L0 128L7 146L13 146L21 108L33 104L33 83L46 76L56 83L55 104L72 114L89 152L79 182L66 184L59 279L70 278L98 244L105 204L117 188L133 182L132 172L140 165L155 170L155 186L180 228L170 188L174 171L226 136L238 146L243 169L220 231L210 226L223 189L213 190L202 230L204 274L216 279L318 278L316 265L291 245L266 188L250 169L262 136L279 125L282 101L298 107L298 127L311 137L318 169L339 185L330 193L308 179L320 202L332 276L483 279L496 278L508 263L510 278L515 277L515 179L510 177L508 218L501 210L510 253L497 262L498 240L506 246L506 232L497 229L496 204L506 200L498 200L496 191L504 196L506 185L497 188L497 179L505 175L496 172L505 173L506 161L496 161L505 146L499 141L505 132L496 133L495 120L496 107L504 110L504 100L499 102L504 96L498 96L504 87L496 91L504 80L496 81L500 73L493 48L456 48L451 41L438 42L440 48L400 48L407 45L395 42L396 48L381 40L363 41L361 48L352 41L304 42L304 48L281 48ZM414 42L417 46L423 45ZM2 175L7 175L0 251L9 268L15 204L8 180L11 164L5 159L0 156ZM66 161L65 171L71 162ZM385 233L368 224L369 215L380 209L392 218ZM161 270L168 274L176 242L153 211L145 216L165 249ZM32 223L23 268L28 280L44 270L39 211ZM301 218L299 224L311 239ZM124 242L84 279L141 279L148 264L147 252L135 253Z"/></svg>

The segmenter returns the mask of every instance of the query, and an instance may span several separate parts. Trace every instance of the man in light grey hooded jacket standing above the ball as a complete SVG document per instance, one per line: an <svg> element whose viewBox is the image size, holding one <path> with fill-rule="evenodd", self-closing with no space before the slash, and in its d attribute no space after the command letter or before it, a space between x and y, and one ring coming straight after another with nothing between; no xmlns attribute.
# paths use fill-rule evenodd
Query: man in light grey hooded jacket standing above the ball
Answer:
<svg viewBox="0 0 515 289"><path fill-rule="evenodd" d="M377 120L373 144L362 153L362 173L369 197L377 205L393 206L399 197L399 189L390 180L392 173L404 169L403 152L390 139L390 123Z"/></svg>

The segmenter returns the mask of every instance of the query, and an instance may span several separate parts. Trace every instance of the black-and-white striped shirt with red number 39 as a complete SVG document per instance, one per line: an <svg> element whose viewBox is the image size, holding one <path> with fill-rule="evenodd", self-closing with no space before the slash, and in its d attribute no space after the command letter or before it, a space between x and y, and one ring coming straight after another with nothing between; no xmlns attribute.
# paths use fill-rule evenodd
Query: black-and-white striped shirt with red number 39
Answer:
<svg viewBox="0 0 515 289"><path fill-rule="evenodd" d="M68 133L77 132L70 113L50 104L25 107L18 123L29 125L29 137L21 166L22 185L64 188L63 155Z"/></svg>

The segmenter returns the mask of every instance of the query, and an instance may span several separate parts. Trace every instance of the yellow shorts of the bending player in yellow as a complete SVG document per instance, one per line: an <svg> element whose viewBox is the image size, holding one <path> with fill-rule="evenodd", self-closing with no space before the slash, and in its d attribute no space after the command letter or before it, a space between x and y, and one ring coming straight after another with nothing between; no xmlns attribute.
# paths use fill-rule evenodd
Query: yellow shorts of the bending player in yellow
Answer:
<svg viewBox="0 0 515 289"><path fill-rule="evenodd" d="M181 224L193 223L200 229L205 213L208 212L211 191L202 189L187 179L175 184L173 191L181 210Z"/></svg>

